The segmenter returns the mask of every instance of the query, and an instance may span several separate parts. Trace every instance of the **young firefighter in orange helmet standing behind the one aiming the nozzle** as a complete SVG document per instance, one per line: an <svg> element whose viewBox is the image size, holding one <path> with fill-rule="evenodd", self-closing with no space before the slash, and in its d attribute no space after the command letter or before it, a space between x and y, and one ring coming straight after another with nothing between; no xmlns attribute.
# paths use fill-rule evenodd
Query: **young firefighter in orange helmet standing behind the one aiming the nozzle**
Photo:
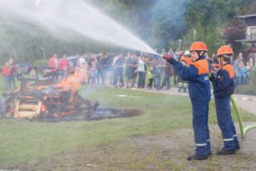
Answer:
<svg viewBox="0 0 256 171"><path fill-rule="evenodd" d="M210 81L214 86L214 99L218 118L218 126L222 130L224 147L218 151L218 155L234 154L240 149L238 137L230 113L230 96L234 93L234 70L230 65L233 55L230 46L221 46L218 49L218 60L222 68L218 70L216 77L209 74Z"/></svg>

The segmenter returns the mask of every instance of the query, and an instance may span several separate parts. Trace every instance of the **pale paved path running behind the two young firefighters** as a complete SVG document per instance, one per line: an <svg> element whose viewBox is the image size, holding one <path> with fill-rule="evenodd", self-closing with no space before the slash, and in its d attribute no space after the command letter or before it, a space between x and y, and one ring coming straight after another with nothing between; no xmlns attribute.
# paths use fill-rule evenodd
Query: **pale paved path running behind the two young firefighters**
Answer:
<svg viewBox="0 0 256 171"><path fill-rule="evenodd" d="M178 96L188 96L188 93L179 93L178 88L175 88L175 87L171 89L162 89L162 90L155 90L155 89L136 89L136 90L154 92L154 93L166 93L166 94L178 95ZM234 100L236 101L239 108L256 115L256 96L234 94Z"/></svg>

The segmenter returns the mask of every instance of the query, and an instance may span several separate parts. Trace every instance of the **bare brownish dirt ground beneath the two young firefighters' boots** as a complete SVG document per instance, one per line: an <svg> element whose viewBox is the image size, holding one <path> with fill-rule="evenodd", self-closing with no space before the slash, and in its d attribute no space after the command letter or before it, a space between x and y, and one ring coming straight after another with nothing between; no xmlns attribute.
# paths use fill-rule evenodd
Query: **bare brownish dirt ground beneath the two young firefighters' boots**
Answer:
<svg viewBox="0 0 256 171"><path fill-rule="evenodd" d="M237 127L238 128L238 127ZM194 153L192 128L170 130L164 134L131 137L119 143L94 149L62 153L22 170L254 170L256 168L256 129L241 141L235 155L217 156L222 148L218 126L210 125L213 155L206 161L186 161Z"/></svg>

